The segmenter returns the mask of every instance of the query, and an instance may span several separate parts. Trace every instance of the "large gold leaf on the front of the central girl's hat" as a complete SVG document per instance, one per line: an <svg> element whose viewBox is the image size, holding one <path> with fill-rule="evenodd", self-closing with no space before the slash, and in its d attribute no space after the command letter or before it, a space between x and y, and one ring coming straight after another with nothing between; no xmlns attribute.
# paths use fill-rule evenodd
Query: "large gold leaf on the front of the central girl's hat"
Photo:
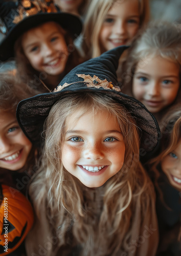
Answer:
<svg viewBox="0 0 181 256"><path fill-rule="evenodd" d="M108 82L106 79L101 80L96 75L92 77L90 75L77 74L77 76L84 79L83 82L87 83L87 87L95 87L97 89L104 88L106 90L108 89L108 90L115 90L117 92L121 92L121 89L119 87L114 87L112 82Z"/></svg>

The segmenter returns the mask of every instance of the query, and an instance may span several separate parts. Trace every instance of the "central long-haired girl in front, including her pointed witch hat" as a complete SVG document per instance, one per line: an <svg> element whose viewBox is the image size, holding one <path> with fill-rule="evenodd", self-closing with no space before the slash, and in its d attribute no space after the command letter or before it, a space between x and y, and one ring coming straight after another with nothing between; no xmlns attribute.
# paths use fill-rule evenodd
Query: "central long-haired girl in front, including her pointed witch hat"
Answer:
<svg viewBox="0 0 181 256"><path fill-rule="evenodd" d="M26 134L34 141L44 131L45 138L30 185L37 222L28 255L155 255L154 191L139 148L152 154L159 130L140 102L116 87L123 49L84 62L53 93L18 105Z"/></svg>

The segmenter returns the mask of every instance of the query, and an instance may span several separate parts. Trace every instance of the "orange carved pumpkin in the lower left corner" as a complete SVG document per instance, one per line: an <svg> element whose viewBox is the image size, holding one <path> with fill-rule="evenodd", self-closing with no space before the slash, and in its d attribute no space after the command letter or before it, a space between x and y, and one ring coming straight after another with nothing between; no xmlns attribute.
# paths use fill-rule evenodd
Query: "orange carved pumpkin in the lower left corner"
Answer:
<svg viewBox="0 0 181 256"><path fill-rule="evenodd" d="M0 255L14 251L33 225L30 202L18 190L0 184Z"/></svg>

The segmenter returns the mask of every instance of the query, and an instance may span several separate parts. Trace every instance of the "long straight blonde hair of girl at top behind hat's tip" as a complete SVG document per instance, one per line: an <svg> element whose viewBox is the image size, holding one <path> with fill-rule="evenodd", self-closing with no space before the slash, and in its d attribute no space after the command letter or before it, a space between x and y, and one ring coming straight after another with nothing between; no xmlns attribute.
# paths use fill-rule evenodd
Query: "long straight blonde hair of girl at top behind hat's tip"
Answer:
<svg viewBox="0 0 181 256"><path fill-rule="evenodd" d="M140 28L149 20L149 2L138 0L140 5ZM99 34L108 10L118 0L92 0L87 9L84 22L82 49L89 58L101 55Z"/></svg>

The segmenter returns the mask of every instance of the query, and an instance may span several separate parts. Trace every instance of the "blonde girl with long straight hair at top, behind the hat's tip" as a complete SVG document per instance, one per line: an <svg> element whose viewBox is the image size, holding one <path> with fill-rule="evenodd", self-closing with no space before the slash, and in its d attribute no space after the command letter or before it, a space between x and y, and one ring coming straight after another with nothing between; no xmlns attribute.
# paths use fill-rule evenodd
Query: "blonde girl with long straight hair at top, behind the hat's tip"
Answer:
<svg viewBox="0 0 181 256"><path fill-rule="evenodd" d="M148 20L147 0L92 0L82 38L85 58L94 58L112 48L129 45Z"/></svg>

